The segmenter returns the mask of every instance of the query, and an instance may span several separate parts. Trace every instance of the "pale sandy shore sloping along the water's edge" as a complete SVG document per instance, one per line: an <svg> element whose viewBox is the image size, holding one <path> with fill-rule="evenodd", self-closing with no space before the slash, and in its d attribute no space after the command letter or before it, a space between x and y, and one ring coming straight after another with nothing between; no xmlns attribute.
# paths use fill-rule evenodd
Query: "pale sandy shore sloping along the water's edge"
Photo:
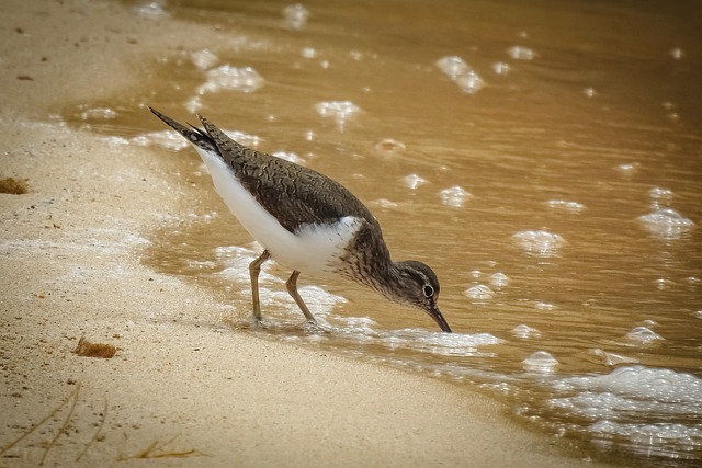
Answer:
<svg viewBox="0 0 702 468"><path fill-rule="evenodd" d="M596 465L479 395L231 330L206 290L143 266L186 189L52 113L135 85L167 37L213 38L115 3L5 3L0 179L29 192L0 194L0 466ZM77 355L83 336L116 355Z"/></svg>

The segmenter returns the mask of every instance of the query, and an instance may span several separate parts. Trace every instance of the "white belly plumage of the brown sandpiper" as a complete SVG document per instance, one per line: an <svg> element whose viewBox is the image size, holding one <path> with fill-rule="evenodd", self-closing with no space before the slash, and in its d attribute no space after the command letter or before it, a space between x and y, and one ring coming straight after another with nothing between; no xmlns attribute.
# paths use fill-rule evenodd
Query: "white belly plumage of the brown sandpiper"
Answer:
<svg viewBox="0 0 702 468"><path fill-rule="evenodd" d="M333 225L303 225L293 233L256 201L218 155L195 149L231 214L273 260L312 275L330 275L337 270L339 255L363 226L362 218L347 216Z"/></svg>

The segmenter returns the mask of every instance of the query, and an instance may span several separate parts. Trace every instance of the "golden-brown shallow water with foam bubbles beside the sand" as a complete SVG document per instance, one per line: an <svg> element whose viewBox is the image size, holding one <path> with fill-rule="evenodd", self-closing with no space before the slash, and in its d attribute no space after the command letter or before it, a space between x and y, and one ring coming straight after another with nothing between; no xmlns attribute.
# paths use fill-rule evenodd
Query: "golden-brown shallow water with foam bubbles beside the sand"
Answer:
<svg viewBox="0 0 702 468"><path fill-rule="evenodd" d="M339 180L396 259L429 263L455 334L342 282L267 265L248 332L421 372L637 466L702 460L702 7L693 1L132 4L222 44L66 118L181 161L195 212L144 262L211 287L249 330L258 254L194 151L144 109L193 112ZM174 20L173 20L174 19ZM186 39L178 44L186 44ZM160 149L166 148L166 149ZM314 286L313 286L314 285Z"/></svg>

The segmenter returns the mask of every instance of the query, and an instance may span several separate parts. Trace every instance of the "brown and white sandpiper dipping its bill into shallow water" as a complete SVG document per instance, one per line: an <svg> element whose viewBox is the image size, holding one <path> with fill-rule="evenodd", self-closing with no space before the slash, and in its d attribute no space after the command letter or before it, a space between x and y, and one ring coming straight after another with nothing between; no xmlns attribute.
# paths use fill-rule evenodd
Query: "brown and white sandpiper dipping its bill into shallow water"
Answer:
<svg viewBox="0 0 702 468"><path fill-rule="evenodd" d="M268 260L291 269L286 289L306 320L315 317L297 292L302 273L341 276L393 303L424 311L443 332L439 279L429 265L393 261L377 219L340 183L304 165L248 148L197 115L203 128L149 110L202 158L215 191L263 252L249 264L253 319L261 321L259 273Z"/></svg>

